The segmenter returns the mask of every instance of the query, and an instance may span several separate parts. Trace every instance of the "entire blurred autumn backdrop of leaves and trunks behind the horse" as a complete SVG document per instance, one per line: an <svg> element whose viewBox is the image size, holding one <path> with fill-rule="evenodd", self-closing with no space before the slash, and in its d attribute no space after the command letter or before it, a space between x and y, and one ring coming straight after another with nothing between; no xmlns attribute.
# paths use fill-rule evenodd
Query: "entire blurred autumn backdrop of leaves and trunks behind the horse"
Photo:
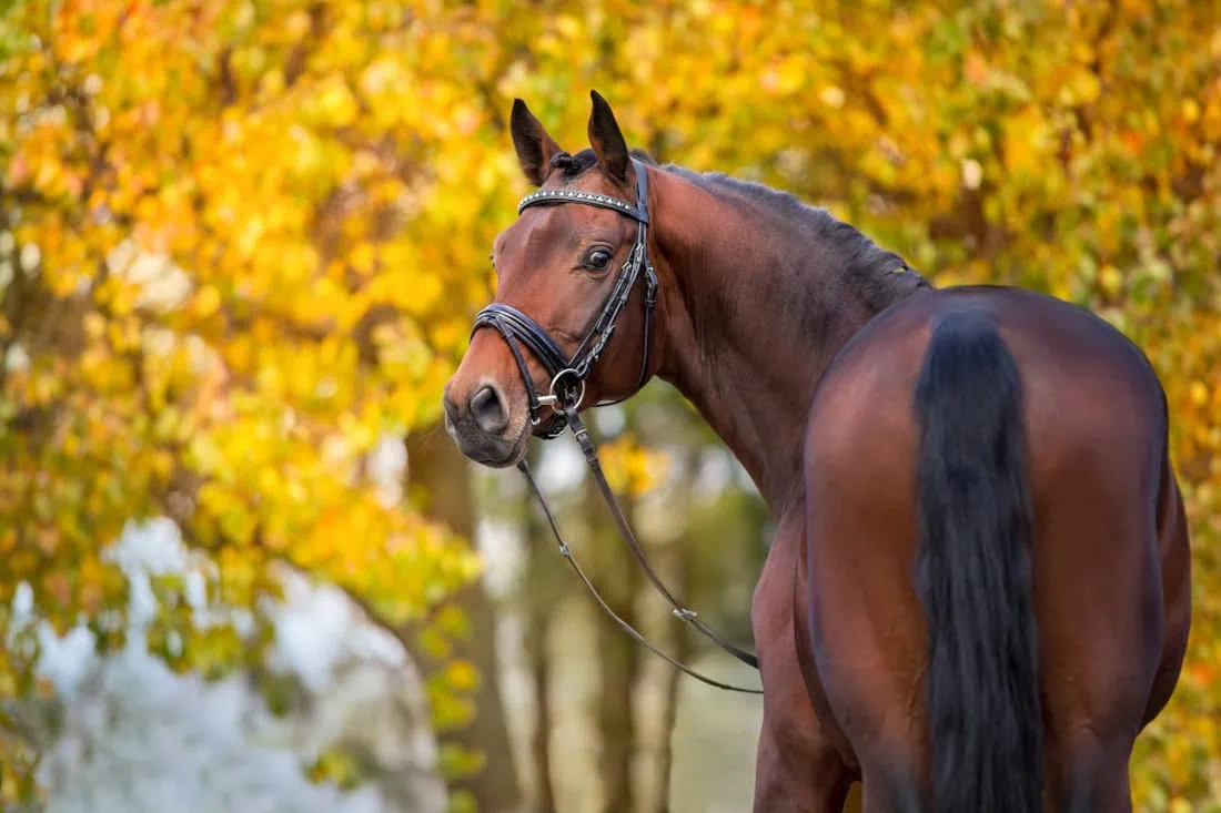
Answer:
<svg viewBox="0 0 1221 813"><path fill-rule="evenodd" d="M1211 2L0 1L0 808L717 813L757 699L595 613L441 387L526 183L524 98L825 205L937 284L1149 353L1195 616L1144 811L1221 811L1221 27ZM663 383L593 421L653 560L740 642L772 526ZM532 454L685 660L569 439ZM1098 566L1105 568L1105 552Z"/></svg>

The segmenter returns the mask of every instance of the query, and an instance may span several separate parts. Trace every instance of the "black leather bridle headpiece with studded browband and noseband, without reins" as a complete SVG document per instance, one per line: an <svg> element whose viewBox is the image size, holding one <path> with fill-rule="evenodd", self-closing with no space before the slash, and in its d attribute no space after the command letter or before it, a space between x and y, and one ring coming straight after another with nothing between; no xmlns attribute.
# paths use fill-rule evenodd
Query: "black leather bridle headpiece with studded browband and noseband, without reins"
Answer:
<svg viewBox="0 0 1221 813"><path fill-rule="evenodd" d="M538 322L513 305L492 303L475 316L475 327L471 330L471 334L481 327L492 327L504 337L505 343L508 343L509 349L513 352L513 359L518 363L521 381L525 383L526 393L530 397L530 424L532 426L538 426L542 422L543 406L552 408L556 414L562 416L565 413L565 406L580 406L585 399L585 382L590 375L590 370L598 360L598 356L602 355L607 342L614 336L615 320L619 319L619 314L623 313L624 306L628 304L631 289L636 286L636 280L640 278L641 272L645 276L645 348L640 364L640 377L636 380L635 389L630 393L615 400L602 402L598 406L607 406L626 400L636 394L648 380L653 308L657 304L657 272L653 271L653 264L648 261L648 173L645 172L645 167L639 161L632 160L632 164L636 167L635 205L626 200L612 198L610 195L581 192L579 189L540 189L526 195L518 204L519 215L530 206L575 203L586 206L597 206L598 209L609 209L636 221L636 240L628 253L628 259L624 261L623 267L619 269L619 276L615 278L614 287L610 289L606 303L603 303L598 317L590 326L589 332L585 333L585 338L581 339L581 343L576 347L571 356L564 353L556 339ZM551 378L547 394L538 394L519 343L525 344L547 371L547 376ZM552 438L563 431L564 425L560 424L554 430L540 433L540 437Z"/></svg>

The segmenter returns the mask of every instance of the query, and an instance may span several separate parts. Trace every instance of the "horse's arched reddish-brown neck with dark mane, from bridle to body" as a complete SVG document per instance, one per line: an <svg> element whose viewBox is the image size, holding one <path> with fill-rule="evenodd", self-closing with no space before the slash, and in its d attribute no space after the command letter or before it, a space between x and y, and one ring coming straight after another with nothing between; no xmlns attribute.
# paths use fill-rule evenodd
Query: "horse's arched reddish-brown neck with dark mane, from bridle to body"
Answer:
<svg viewBox="0 0 1221 813"><path fill-rule="evenodd" d="M658 375L700 410L779 516L801 493L806 419L823 371L916 284L896 284L891 297L882 281L862 295L842 278L851 270L836 264L832 238L665 171L650 182L662 270Z"/></svg>

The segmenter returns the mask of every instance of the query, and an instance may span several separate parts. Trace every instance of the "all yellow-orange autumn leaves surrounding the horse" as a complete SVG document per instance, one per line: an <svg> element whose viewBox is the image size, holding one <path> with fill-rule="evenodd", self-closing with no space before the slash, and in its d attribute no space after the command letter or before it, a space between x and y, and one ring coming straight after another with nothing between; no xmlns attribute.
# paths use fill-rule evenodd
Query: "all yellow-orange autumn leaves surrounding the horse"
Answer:
<svg viewBox="0 0 1221 813"><path fill-rule="evenodd" d="M1197 605L1133 778L1149 809L1221 796L1215 4L5 7L0 605L22 579L60 623L121 603L99 547L165 510L237 602L278 557L399 616L469 577L364 455L437 417L487 299L525 188L509 101L576 149L596 87L662 160L791 189L939 283L1050 291L1148 350ZM617 487L657 476L630 439L606 457Z"/></svg>

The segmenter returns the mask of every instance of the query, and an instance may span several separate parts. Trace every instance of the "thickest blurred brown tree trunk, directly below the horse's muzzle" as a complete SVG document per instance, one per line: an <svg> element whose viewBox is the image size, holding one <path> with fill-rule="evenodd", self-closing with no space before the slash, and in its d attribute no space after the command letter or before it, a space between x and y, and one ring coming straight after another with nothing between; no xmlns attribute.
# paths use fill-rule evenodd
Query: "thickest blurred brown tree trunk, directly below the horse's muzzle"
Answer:
<svg viewBox="0 0 1221 813"><path fill-rule="evenodd" d="M426 516L444 522L474 544L474 505L466 459L440 430L410 436L407 449L409 498ZM477 581L451 601L462 608L471 626L469 638L454 642L454 656L475 665L480 684L473 696L474 721L442 737L442 745L460 745L487 758L482 770L453 781L451 792L466 791L474 796L480 813L515 812L521 791L501 698L496 609L482 582ZM421 664L425 669L440 665L426 660Z"/></svg>

